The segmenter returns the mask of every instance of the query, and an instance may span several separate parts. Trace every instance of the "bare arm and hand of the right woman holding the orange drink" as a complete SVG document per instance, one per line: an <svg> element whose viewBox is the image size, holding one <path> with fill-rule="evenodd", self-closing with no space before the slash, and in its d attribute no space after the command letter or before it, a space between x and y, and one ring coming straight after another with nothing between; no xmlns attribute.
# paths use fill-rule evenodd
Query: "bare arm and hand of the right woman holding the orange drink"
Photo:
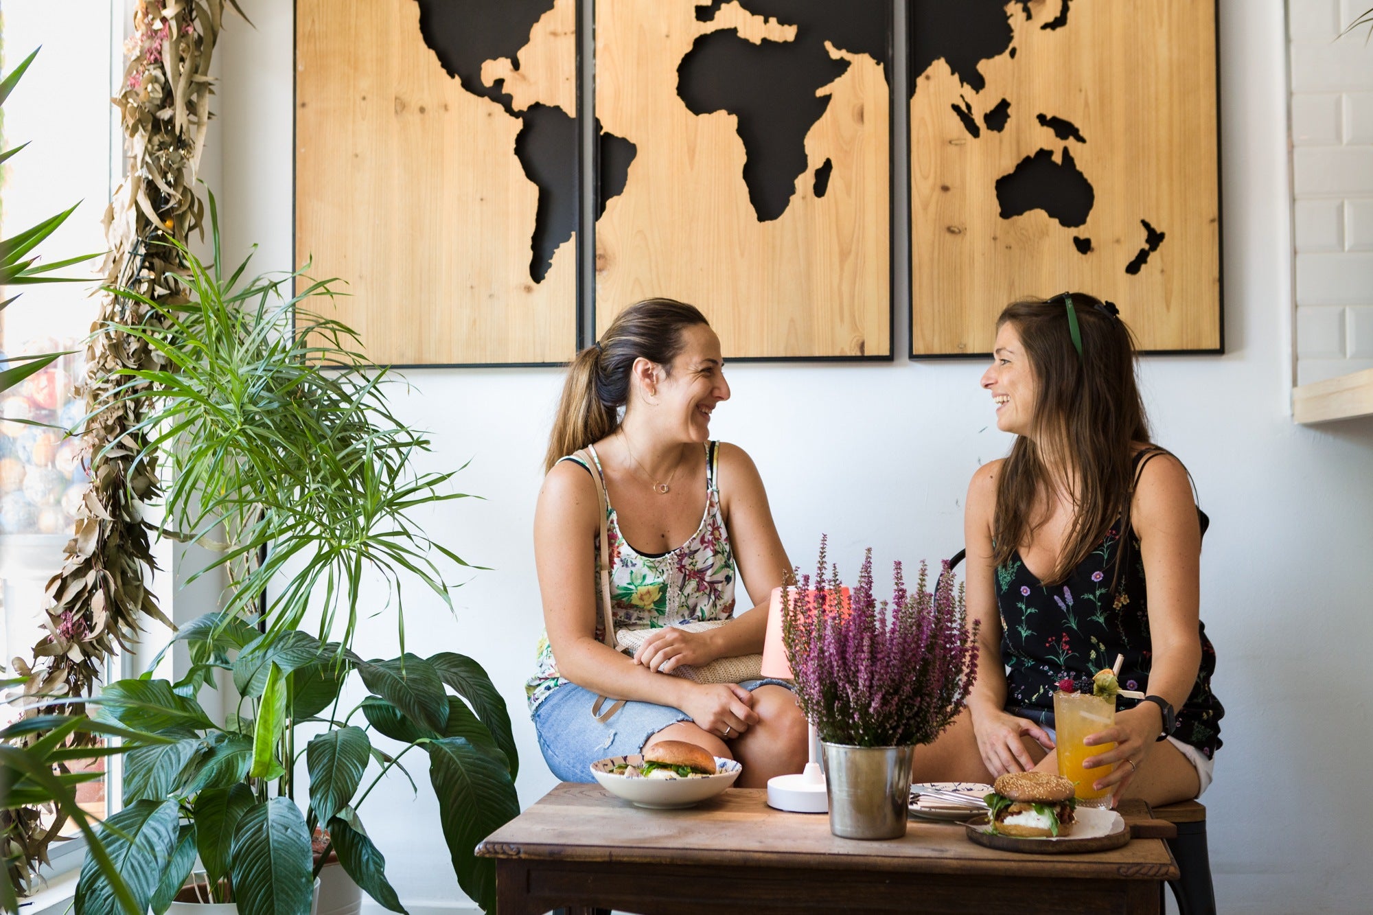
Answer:
<svg viewBox="0 0 1373 915"><path fill-rule="evenodd" d="M1188 471L1173 455L1151 459L1140 474L1131 506L1134 533L1140 537L1144 576L1149 594L1151 668L1146 692L1182 708L1201 665L1197 625L1201 577L1201 526L1192 499ZM1098 787L1123 789L1142 765L1163 732L1163 712L1152 702L1116 713L1116 727L1087 738L1087 745L1116 742L1114 750L1085 760L1089 768L1131 760Z"/></svg>

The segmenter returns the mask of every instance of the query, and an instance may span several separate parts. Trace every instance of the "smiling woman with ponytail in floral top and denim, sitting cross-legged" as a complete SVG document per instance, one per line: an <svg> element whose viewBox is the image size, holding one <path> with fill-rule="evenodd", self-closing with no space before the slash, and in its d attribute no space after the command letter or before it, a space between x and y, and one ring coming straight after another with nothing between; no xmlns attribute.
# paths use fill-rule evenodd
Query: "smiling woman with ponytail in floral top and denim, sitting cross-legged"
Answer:
<svg viewBox="0 0 1373 915"><path fill-rule="evenodd" d="M540 747L563 780L590 782L593 761L655 738L739 760L740 787L805 767L806 721L784 683L670 676L761 651L769 596L791 566L754 463L710 438L728 398L719 338L673 300L630 306L571 364L534 517L545 637L527 684ZM597 478L615 628L658 628L633 658L601 640ZM740 614L736 563L754 607ZM673 625L708 620L729 622ZM597 697L626 702L603 721Z"/></svg>

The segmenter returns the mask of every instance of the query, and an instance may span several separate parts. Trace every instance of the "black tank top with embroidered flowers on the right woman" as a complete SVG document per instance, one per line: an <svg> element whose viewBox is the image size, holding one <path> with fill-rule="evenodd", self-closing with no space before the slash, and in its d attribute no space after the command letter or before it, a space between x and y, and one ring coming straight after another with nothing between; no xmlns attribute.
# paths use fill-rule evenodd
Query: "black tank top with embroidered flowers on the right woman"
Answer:
<svg viewBox="0 0 1373 915"><path fill-rule="evenodd" d="M1135 456L1135 468L1146 455ZM1200 510L1201 530L1208 519ZM1124 655L1120 687L1146 691L1149 680L1149 595L1144 577L1140 539L1120 523L1112 526L1097 548L1059 585L1045 585L1024 565L1019 551L997 567L997 609L1001 613L1001 657L1006 664L1006 708L1039 724L1053 724L1053 692L1059 680L1071 677L1078 690L1092 690L1092 675ZM1122 543L1124 555L1120 556ZM1116 562L1119 581L1114 581ZM1116 587L1112 588L1112 584ZM1173 736L1197 747L1208 760L1221 749L1221 717L1225 709L1211 692L1215 648L1201 636L1201 666L1188 701L1177 710ZM1137 701L1119 698L1118 709Z"/></svg>

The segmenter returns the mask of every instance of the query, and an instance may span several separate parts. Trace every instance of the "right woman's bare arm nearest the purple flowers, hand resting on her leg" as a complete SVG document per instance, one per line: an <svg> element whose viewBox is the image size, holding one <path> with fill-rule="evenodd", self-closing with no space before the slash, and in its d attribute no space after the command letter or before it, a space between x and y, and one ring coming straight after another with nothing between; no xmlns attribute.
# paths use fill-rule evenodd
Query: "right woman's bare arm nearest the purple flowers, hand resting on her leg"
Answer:
<svg viewBox="0 0 1373 915"><path fill-rule="evenodd" d="M978 468L972 482L968 484L964 510L968 621L980 624L978 681L968 695L968 712L972 716L983 765L994 776L1034 768L1034 760L1026 750L1022 735L1034 738L1046 750L1053 749L1053 742L1039 725L1005 710L1006 668L1001 657L1001 613L997 610L997 567L991 545L997 475L1002 463L994 460Z"/></svg>

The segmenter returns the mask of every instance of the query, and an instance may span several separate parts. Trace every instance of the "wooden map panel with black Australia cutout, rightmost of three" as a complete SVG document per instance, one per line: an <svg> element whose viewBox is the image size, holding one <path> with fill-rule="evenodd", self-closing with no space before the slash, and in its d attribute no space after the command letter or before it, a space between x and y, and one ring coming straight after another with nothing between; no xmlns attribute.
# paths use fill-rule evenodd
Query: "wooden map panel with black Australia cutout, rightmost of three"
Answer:
<svg viewBox="0 0 1373 915"><path fill-rule="evenodd" d="M912 356L1064 290L1141 349L1221 350L1215 0L908 8Z"/></svg>

